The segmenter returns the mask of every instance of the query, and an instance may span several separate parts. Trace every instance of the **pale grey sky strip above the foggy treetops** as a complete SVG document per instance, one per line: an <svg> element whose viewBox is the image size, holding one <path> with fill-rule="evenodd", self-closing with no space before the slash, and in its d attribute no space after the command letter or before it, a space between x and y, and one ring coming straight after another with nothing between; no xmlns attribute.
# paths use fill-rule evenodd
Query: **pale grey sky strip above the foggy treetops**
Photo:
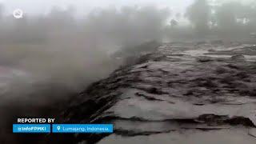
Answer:
<svg viewBox="0 0 256 144"><path fill-rule="evenodd" d="M6 14L12 14L16 8L28 14L47 13L52 6L75 6L78 14L84 14L94 7L134 6L154 4L160 7L170 7L174 11L182 11L193 0L0 0L6 8Z"/></svg>

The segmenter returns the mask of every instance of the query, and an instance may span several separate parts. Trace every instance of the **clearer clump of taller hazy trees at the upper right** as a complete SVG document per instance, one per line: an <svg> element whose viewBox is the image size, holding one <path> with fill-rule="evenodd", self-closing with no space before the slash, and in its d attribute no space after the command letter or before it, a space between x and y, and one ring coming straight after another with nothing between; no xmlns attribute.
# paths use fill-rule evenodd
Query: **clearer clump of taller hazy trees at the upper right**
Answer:
<svg viewBox="0 0 256 144"><path fill-rule="evenodd" d="M181 17L189 20L189 26L180 26ZM168 28L174 38L249 38L256 31L256 1L214 2L194 0L185 14L176 14Z"/></svg>

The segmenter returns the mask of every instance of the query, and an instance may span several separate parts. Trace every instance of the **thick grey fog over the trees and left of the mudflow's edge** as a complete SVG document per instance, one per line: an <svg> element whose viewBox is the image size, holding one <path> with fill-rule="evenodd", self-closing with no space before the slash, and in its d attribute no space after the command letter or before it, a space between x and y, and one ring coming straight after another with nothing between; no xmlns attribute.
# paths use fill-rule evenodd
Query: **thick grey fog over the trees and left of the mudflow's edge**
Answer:
<svg viewBox="0 0 256 144"><path fill-rule="evenodd" d="M47 14L15 19L2 4L0 126L9 128L13 117L54 114L70 95L116 69L120 62L111 54L122 47L152 40L243 40L256 32L255 2L186 5L180 3L183 11L154 5L94 8L80 17L75 6L54 6ZM16 141L11 137L3 136L3 143Z"/></svg>

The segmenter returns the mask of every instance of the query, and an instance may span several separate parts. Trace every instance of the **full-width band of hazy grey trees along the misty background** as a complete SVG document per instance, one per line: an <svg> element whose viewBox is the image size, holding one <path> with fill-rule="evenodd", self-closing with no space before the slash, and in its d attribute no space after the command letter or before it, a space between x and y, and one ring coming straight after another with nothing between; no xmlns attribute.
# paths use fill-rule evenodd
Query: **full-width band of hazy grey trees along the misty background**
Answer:
<svg viewBox="0 0 256 144"><path fill-rule="evenodd" d="M102 8L82 18L75 17L72 6L54 7L44 15L25 14L22 19L3 11L0 6L1 42L42 43L59 34L75 34L106 46L162 38L245 38L256 31L256 2L194 0L183 13L156 6Z"/></svg>

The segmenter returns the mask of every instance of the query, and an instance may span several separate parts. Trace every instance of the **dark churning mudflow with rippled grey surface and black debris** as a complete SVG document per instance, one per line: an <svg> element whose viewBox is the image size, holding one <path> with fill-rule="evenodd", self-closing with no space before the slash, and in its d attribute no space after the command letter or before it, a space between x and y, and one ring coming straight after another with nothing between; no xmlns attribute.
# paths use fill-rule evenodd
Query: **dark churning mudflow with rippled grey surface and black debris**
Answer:
<svg viewBox="0 0 256 144"><path fill-rule="evenodd" d="M113 123L114 134L50 134L47 143L256 142L256 46L164 43L126 63L72 98L61 118Z"/></svg>

